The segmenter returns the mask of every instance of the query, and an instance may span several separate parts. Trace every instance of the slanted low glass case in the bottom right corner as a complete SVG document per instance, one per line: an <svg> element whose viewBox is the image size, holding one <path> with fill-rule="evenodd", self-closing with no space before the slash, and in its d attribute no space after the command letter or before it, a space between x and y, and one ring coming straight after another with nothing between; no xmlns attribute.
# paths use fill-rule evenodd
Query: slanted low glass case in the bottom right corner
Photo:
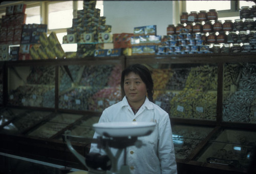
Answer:
<svg viewBox="0 0 256 174"><path fill-rule="evenodd" d="M247 169L255 155L255 145L255 132L223 129L217 136L212 137L196 160Z"/></svg>

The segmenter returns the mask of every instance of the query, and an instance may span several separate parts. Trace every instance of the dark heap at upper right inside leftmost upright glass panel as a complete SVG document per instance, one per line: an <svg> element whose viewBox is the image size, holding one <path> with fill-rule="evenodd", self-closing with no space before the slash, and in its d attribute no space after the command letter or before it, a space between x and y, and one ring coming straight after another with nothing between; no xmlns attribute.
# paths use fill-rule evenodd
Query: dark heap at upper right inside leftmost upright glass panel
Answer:
<svg viewBox="0 0 256 174"><path fill-rule="evenodd" d="M30 67L30 73L27 77L29 84L55 84L55 67L53 66L35 66Z"/></svg>

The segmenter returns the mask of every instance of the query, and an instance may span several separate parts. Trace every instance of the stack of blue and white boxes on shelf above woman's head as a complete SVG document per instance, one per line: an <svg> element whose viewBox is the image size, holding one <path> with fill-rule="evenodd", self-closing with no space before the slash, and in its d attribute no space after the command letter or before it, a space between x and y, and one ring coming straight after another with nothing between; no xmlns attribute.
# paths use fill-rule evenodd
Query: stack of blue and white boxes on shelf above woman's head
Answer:
<svg viewBox="0 0 256 174"><path fill-rule="evenodd" d="M155 55L161 44L161 36L157 34L156 25L134 28L134 36L131 37L133 55Z"/></svg>

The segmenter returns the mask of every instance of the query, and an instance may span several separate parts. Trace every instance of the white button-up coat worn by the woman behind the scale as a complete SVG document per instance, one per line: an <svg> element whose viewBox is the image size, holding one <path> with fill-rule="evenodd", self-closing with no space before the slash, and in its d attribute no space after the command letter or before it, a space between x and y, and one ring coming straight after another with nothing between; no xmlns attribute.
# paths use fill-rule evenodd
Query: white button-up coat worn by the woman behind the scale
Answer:
<svg viewBox="0 0 256 174"><path fill-rule="evenodd" d="M134 115L126 97L122 101L106 108L99 122L155 122L156 127L151 135L138 137L144 146L126 148L126 164L130 166L131 174L177 174L175 151L172 140L172 127L168 114L148 98ZM98 134L94 134L97 138ZM116 154L116 149L112 148ZM90 152L99 153L97 144L91 145ZM101 150L102 152L103 150ZM123 164L123 153L118 162L118 168Z"/></svg>

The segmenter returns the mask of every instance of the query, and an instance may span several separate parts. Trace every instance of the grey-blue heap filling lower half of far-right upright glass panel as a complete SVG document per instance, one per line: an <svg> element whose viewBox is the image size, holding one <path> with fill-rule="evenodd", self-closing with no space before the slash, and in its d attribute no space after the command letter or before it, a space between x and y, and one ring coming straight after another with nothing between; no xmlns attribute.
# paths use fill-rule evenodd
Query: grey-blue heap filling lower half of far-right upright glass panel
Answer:
<svg viewBox="0 0 256 174"><path fill-rule="evenodd" d="M249 122L250 107L255 98L252 91L237 91L223 102L223 121Z"/></svg>

